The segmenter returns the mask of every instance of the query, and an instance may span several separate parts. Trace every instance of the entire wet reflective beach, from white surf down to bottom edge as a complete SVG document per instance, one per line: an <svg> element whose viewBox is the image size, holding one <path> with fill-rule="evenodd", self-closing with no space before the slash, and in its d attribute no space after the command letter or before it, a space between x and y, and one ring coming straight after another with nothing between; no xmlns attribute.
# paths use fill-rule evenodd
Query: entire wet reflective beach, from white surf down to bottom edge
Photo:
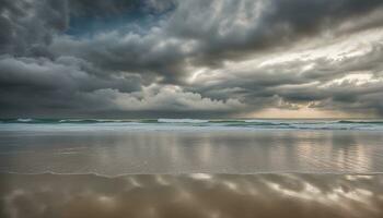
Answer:
<svg viewBox="0 0 383 218"><path fill-rule="evenodd" d="M0 217L383 217L381 131L318 122L5 123Z"/></svg>

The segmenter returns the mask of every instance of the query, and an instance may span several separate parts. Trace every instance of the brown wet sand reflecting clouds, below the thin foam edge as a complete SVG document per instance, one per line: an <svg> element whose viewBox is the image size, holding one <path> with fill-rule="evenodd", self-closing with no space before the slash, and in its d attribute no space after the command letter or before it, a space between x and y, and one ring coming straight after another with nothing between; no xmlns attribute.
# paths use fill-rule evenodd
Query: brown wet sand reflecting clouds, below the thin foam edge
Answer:
<svg viewBox="0 0 383 218"><path fill-rule="evenodd" d="M383 174L0 177L3 218L383 217Z"/></svg>

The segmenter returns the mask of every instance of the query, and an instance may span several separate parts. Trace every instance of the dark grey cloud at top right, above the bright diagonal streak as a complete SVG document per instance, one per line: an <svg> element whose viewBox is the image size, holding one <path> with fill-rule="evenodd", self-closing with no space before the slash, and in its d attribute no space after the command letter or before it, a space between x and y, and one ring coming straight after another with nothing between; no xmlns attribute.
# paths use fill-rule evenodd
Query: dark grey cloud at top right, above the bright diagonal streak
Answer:
<svg viewBox="0 0 383 218"><path fill-rule="evenodd" d="M360 19L382 5L379 0L187 1L166 27L176 37L198 41L198 62L219 64L222 59L241 59L246 53L289 47L299 39L332 33L341 22Z"/></svg>

